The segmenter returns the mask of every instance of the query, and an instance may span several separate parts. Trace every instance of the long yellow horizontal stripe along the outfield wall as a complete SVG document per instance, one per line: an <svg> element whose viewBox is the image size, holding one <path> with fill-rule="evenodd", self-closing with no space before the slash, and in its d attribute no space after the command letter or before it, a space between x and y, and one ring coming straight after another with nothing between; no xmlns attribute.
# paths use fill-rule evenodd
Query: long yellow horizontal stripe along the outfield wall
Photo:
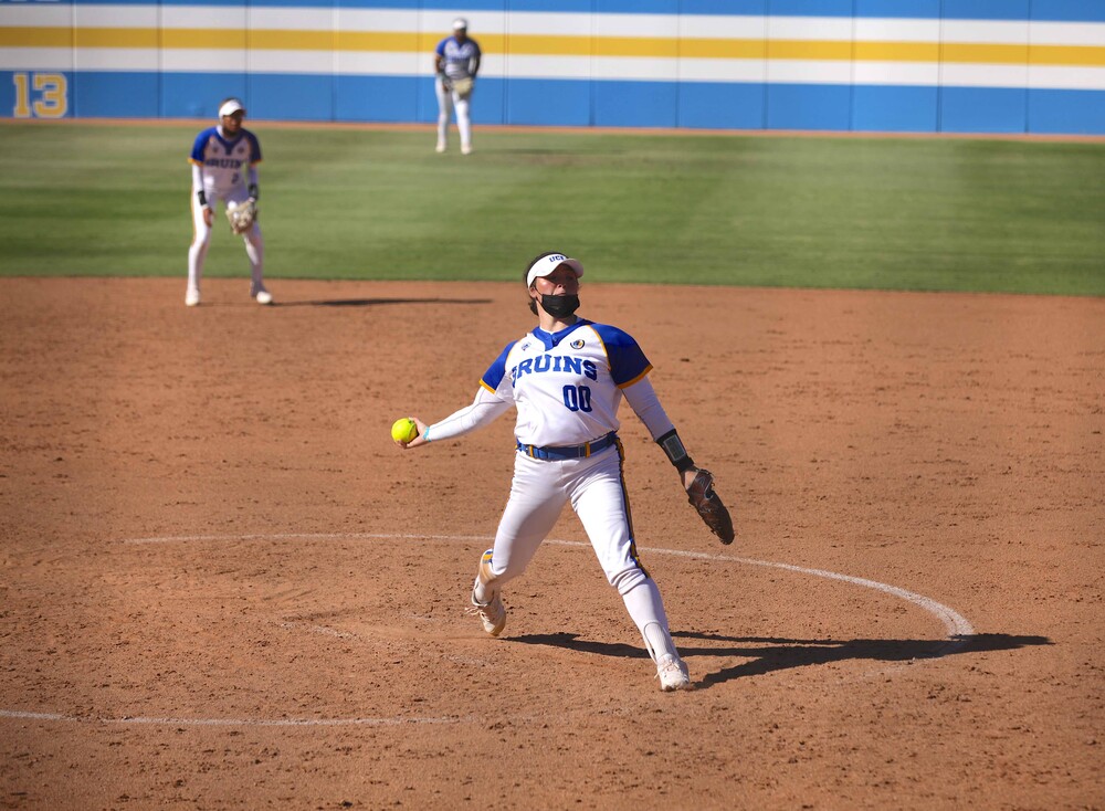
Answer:
<svg viewBox="0 0 1105 811"><path fill-rule="evenodd" d="M0 48L143 48L260 51L431 53L438 33L286 31L277 29L157 29L0 27ZM645 59L955 62L989 65L1105 67L1105 46L866 42L850 40L702 39L490 34L486 54L635 56Z"/></svg>

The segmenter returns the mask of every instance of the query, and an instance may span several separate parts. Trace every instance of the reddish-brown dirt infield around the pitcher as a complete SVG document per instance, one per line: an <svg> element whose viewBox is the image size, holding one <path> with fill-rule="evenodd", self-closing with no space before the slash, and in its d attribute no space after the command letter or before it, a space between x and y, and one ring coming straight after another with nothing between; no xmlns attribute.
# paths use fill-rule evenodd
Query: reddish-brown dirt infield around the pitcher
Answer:
<svg viewBox="0 0 1105 811"><path fill-rule="evenodd" d="M1105 803L1105 301L585 284L736 505L623 409L662 694L570 513L464 614L511 419L388 436L518 286L183 287L0 280L0 805Z"/></svg>

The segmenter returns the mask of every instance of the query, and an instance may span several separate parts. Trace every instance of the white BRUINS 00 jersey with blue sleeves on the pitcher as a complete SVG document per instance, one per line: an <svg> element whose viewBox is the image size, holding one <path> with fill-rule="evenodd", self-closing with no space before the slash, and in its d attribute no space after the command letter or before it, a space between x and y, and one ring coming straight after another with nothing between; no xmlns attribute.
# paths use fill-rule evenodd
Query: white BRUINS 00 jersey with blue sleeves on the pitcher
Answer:
<svg viewBox="0 0 1105 811"><path fill-rule="evenodd" d="M507 345L480 383L518 409L514 432L523 444L579 445L619 429L622 389L651 370L632 337L581 318Z"/></svg>

